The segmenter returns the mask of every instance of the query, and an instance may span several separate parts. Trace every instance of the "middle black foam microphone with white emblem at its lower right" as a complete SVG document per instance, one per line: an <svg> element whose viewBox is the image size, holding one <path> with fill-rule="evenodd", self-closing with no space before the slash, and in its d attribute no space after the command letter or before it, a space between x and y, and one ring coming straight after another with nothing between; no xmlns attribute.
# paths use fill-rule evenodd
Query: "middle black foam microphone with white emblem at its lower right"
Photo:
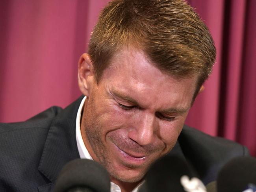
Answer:
<svg viewBox="0 0 256 192"><path fill-rule="evenodd" d="M165 156L148 170L139 192L206 192L202 181L191 177L193 172L185 161L179 157Z"/></svg>

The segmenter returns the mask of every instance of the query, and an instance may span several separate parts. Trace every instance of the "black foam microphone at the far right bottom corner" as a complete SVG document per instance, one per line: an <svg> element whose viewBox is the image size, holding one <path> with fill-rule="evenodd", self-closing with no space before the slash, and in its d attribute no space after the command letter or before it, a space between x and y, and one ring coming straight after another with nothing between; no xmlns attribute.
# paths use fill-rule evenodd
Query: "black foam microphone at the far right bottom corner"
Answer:
<svg viewBox="0 0 256 192"><path fill-rule="evenodd" d="M236 157L223 166L217 177L218 192L256 191L256 159ZM253 189L254 188L254 189Z"/></svg>

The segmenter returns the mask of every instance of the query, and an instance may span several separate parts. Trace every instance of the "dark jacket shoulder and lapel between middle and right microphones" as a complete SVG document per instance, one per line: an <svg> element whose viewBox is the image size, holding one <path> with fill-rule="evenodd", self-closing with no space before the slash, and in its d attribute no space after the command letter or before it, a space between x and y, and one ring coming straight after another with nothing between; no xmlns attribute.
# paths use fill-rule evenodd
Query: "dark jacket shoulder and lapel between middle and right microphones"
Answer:
<svg viewBox="0 0 256 192"><path fill-rule="evenodd" d="M232 158L249 155L248 149L237 142L212 137L189 126L184 126L178 142L187 162L204 183L216 180L219 170Z"/></svg>

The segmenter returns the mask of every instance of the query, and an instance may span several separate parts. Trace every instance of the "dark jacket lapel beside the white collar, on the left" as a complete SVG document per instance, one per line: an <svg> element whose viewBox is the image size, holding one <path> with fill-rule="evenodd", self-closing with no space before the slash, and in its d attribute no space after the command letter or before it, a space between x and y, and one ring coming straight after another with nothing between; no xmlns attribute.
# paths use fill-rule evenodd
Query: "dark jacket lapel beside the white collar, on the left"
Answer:
<svg viewBox="0 0 256 192"><path fill-rule="evenodd" d="M80 158L76 144L76 114L82 98L63 109L52 121L38 167L51 183L39 186L40 192L52 190L61 168L72 159Z"/></svg>

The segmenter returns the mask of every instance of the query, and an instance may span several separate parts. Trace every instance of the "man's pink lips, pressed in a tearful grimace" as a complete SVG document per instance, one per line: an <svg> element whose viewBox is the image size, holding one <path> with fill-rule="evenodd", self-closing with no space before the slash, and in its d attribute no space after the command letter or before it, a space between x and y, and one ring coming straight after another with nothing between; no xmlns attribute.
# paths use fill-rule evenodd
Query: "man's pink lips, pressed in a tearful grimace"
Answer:
<svg viewBox="0 0 256 192"><path fill-rule="evenodd" d="M126 162L128 164L141 165L147 159L147 155L134 154L134 153L126 152L126 151L121 150L115 144L113 144L113 145L115 146L115 151L116 151L118 157L122 161L124 161L124 162Z"/></svg>

